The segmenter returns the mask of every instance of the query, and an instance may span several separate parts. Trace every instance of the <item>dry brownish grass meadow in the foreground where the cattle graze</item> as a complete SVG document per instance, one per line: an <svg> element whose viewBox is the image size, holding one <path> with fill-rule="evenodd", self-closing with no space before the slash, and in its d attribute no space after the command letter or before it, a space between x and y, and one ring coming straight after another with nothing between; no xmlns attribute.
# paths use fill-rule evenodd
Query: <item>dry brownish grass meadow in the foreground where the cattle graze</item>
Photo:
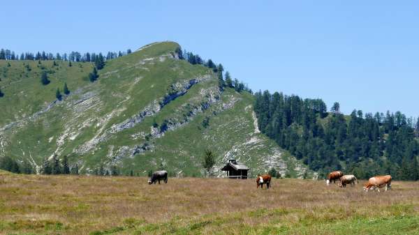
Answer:
<svg viewBox="0 0 419 235"><path fill-rule="evenodd" d="M0 172L0 234L419 234L419 182L272 181Z"/></svg>

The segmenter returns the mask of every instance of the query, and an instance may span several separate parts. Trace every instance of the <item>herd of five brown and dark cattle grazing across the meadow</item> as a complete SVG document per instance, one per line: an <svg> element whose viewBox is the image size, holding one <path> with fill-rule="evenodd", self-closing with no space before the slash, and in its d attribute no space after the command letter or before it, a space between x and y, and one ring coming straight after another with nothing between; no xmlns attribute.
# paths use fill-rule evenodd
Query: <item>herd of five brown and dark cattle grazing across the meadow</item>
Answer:
<svg viewBox="0 0 419 235"><path fill-rule="evenodd" d="M269 189L270 187L270 181L272 177L269 174L264 174L261 176L258 176L256 178L256 185L257 188L263 188L263 185L266 185L266 188ZM168 172L166 171L157 171L152 174L152 177L149 179L148 183L156 183L160 181L164 181L164 183L168 183ZM328 179L326 180L326 184L330 185L330 183L336 183L338 181L339 187L346 188L346 185L350 184L352 187L355 186L355 182L358 183L358 179L353 174L344 175L342 172L330 172L328 175ZM391 188L391 176L374 176L369 178L368 182L364 185L365 192L368 192L368 190L378 190L380 192L380 188L385 187L385 191Z"/></svg>

